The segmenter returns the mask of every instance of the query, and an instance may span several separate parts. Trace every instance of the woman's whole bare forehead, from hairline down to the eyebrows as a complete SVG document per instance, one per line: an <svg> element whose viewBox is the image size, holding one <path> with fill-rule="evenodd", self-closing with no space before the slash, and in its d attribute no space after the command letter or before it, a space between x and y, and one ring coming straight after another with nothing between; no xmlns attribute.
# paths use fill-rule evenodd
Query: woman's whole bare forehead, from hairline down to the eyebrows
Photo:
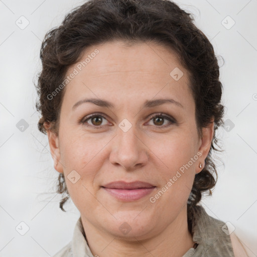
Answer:
<svg viewBox="0 0 257 257"><path fill-rule="evenodd" d="M127 45L113 41L94 45L85 49L66 75L75 70L77 74L65 88L70 101L88 95L110 101L111 95L134 102L135 95L138 101L157 95L158 98L170 95L184 104L188 98L192 100L187 71L172 49L158 43Z"/></svg>

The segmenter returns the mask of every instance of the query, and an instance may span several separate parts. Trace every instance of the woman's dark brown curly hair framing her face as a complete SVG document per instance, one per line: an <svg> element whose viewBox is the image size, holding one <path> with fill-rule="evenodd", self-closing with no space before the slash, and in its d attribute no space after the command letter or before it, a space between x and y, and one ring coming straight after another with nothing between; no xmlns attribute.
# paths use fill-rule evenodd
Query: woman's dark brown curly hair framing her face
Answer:
<svg viewBox="0 0 257 257"><path fill-rule="evenodd" d="M220 103L222 84L213 46L194 25L192 15L169 0L89 0L72 10L59 27L50 30L42 43L42 70L36 85L37 110L42 117L38 129L46 134L44 122L58 135L60 107L65 88L49 97L65 79L67 69L80 60L84 50L95 44L113 40L127 43L154 41L169 46L188 71L190 88L196 105L198 135L214 118L214 136L205 159L204 169L195 175L188 199L188 211L202 198L211 195L217 181L216 166L211 158L218 139L217 128L224 125L224 106ZM69 199L62 173L57 192L62 194L60 208Z"/></svg>

